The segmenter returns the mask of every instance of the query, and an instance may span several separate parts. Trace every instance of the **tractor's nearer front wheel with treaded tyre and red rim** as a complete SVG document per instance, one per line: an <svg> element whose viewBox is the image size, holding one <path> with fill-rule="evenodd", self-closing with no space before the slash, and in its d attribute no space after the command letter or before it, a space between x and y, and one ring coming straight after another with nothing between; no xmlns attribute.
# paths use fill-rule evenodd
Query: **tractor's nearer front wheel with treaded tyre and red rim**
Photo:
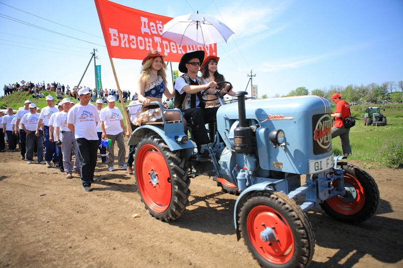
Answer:
<svg viewBox="0 0 403 268"><path fill-rule="evenodd" d="M306 267L315 239L301 208L284 193L256 192L242 204L239 228L262 267Z"/></svg>

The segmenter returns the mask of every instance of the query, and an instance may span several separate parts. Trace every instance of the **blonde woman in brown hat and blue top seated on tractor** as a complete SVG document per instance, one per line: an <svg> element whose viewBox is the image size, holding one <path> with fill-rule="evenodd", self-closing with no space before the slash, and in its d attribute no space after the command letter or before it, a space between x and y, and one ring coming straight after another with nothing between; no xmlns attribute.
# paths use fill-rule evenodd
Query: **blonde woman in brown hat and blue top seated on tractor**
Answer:
<svg viewBox="0 0 403 268"><path fill-rule="evenodd" d="M167 99L175 97L174 92L170 92L165 87L166 69L164 57L157 50L147 54L142 62L143 68L138 80L139 102L143 103L142 113L133 122L134 125L140 126L142 122L162 121L162 111L157 104L149 105L151 102L159 102L162 104L162 96ZM175 109L177 110L177 109ZM164 110L166 121L180 121L180 113L176 111ZM185 123L185 122L184 122Z"/></svg>

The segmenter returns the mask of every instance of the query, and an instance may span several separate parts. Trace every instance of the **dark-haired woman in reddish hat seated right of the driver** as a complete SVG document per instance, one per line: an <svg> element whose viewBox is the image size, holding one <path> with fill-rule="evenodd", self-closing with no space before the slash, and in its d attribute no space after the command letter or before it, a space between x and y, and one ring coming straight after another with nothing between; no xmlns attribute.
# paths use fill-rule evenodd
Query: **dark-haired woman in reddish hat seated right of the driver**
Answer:
<svg viewBox="0 0 403 268"><path fill-rule="evenodd" d="M203 81L207 84L210 81L216 81L218 82L223 82L225 81L224 75L218 72L217 70L217 65L218 61L220 60L219 57L216 56L207 56L203 63L200 65L200 71L201 71L201 78L203 78ZM228 91L228 95L234 96L235 93L232 91L232 88L222 88L223 85L219 85L219 88L221 91L221 95L224 95ZM229 85L226 85L229 86ZM214 100L217 99L215 95L207 95L206 99L206 107L219 107L220 102L219 100ZM209 101L211 100L211 101Z"/></svg>

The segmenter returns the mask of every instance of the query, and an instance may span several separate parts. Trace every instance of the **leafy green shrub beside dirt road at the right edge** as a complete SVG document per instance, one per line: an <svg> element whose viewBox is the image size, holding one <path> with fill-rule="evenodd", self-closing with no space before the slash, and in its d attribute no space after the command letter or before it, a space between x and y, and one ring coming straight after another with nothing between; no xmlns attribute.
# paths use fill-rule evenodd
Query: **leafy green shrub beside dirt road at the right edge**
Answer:
<svg viewBox="0 0 403 268"><path fill-rule="evenodd" d="M380 150L383 165L389 168L403 168L403 142L389 141Z"/></svg>

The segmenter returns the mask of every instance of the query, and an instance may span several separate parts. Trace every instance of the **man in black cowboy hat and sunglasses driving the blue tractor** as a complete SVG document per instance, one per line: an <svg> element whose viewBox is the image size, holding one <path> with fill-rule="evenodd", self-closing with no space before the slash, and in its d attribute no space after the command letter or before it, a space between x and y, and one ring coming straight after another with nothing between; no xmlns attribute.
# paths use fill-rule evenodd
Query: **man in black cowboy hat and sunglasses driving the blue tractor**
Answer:
<svg viewBox="0 0 403 268"><path fill-rule="evenodd" d="M217 87L215 81L207 84L197 76L198 69L205 57L204 51L193 51L183 54L179 62L179 71L183 73L175 80L175 107L180 109L187 124L191 127L191 134L200 154L200 147L209 143L206 123L214 123L218 107L206 108L206 103L201 98L201 91L210 88L208 92L214 94Z"/></svg>

